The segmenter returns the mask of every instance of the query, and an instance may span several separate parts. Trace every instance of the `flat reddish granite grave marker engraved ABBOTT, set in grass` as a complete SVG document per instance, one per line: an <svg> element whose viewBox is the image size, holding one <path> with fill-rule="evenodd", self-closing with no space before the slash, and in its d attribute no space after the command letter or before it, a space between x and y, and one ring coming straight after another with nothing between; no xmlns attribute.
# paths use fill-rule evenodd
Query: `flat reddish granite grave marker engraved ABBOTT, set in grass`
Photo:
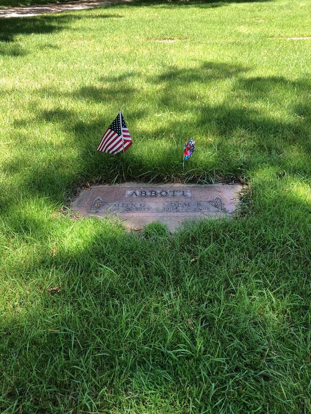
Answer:
<svg viewBox="0 0 311 414"><path fill-rule="evenodd" d="M83 190L72 209L85 217L118 217L128 228L161 221L173 231L187 221L232 216L242 188L239 184L97 185Z"/></svg>

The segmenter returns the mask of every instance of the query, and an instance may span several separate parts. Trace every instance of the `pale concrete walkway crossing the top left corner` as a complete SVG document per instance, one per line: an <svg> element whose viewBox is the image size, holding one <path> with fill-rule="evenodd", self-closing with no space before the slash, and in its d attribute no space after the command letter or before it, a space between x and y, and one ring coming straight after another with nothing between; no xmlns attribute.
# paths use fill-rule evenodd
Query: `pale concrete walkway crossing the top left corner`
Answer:
<svg viewBox="0 0 311 414"><path fill-rule="evenodd" d="M0 9L0 18L4 17L31 17L45 13L71 12L72 10L92 9L115 3L127 3L132 0L89 0L54 3L38 6L10 7Z"/></svg>

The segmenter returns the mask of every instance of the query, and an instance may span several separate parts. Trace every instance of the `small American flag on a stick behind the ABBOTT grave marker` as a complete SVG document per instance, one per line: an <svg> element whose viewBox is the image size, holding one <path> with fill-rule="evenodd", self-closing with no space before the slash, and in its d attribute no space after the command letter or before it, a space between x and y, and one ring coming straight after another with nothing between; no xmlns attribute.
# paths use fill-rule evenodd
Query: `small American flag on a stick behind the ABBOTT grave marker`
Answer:
<svg viewBox="0 0 311 414"><path fill-rule="evenodd" d="M126 127L123 115L119 111L117 118L112 122L104 133L97 151L107 152L107 154L117 154L126 151L133 144L129 130Z"/></svg>

